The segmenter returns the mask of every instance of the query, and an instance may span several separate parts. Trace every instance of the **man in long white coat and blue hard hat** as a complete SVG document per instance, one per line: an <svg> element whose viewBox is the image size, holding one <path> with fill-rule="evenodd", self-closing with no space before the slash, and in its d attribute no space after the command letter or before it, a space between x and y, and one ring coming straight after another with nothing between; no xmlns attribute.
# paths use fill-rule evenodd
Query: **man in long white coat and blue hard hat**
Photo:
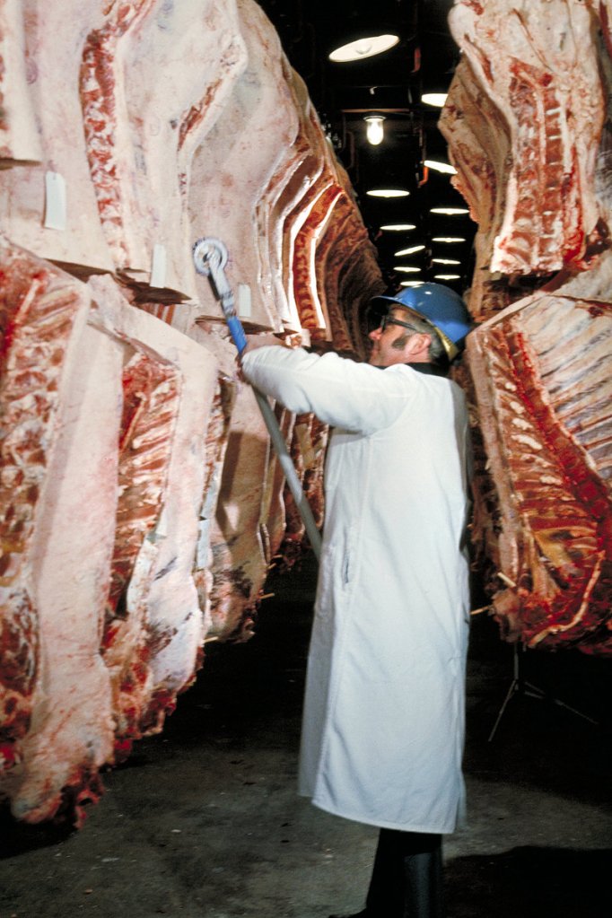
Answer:
<svg viewBox="0 0 612 918"><path fill-rule="evenodd" d="M242 369L333 428L299 791L381 830L359 918L440 918L441 835L463 801L469 621L467 414L440 364L470 319L439 284L381 305L369 364L254 341Z"/></svg>

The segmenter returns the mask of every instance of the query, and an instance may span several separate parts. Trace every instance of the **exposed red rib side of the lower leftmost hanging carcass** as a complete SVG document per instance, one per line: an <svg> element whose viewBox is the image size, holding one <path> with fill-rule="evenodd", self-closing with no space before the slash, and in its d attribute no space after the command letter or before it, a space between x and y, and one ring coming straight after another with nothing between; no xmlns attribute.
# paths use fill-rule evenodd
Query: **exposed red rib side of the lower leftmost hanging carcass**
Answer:
<svg viewBox="0 0 612 918"><path fill-rule="evenodd" d="M3 333L0 410L0 771L18 758L13 741L28 732L39 677L39 622L32 596L30 546L55 439L63 358L87 306L79 285L23 252L0 248Z"/></svg>

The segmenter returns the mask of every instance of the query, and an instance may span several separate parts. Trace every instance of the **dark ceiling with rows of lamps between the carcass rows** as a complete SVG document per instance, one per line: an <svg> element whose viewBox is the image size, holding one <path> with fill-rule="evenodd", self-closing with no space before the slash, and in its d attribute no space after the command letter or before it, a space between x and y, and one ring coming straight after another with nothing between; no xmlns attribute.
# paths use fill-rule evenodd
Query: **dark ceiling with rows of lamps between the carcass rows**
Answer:
<svg viewBox="0 0 612 918"><path fill-rule="evenodd" d="M458 292L470 285L473 235L467 216L444 216L431 207L465 207L448 174L423 161L448 162L437 128L440 108L421 102L424 92L445 92L459 60L447 19L452 0L259 0L273 22L284 51L305 80L321 122L355 188L363 220L375 242L385 279L394 290L406 280L440 280ZM366 34L395 33L392 50L356 62L333 63L328 53ZM366 114L384 115L384 140L372 146L365 136ZM400 185L410 195L381 199L368 189ZM406 232L381 230L389 223L412 223ZM463 243L436 242L463 237ZM395 256L424 245L412 255ZM433 261L433 260L436 261ZM451 259L459 264L444 264ZM398 265L418 267L404 273ZM439 274L459 274L456 280Z"/></svg>

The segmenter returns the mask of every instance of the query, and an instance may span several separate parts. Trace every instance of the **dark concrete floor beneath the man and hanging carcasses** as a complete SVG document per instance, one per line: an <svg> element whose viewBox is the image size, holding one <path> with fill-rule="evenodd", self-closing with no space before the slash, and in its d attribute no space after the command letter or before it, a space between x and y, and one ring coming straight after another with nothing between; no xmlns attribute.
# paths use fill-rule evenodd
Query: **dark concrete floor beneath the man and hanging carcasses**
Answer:
<svg viewBox="0 0 612 918"><path fill-rule="evenodd" d="M362 908L370 827L295 794L314 565L271 577L257 636L210 645L160 736L104 776L83 829L0 817L0 918L327 918ZM473 619L469 824L445 842L449 918L612 915L612 662L520 655L551 699L509 701L513 650Z"/></svg>

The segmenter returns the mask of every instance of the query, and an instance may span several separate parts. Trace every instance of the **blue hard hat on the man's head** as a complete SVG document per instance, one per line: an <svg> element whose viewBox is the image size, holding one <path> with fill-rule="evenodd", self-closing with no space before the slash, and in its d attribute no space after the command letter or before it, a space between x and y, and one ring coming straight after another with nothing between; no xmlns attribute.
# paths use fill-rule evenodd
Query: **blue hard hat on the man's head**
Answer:
<svg viewBox="0 0 612 918"><path fill-rule="evenodd" d="M377 303L389 304L386 308L399 306L425 319L438 332L449 360L462 351L465 337L473 328L462 297L443 284L404 287L395 297L373 297L372 303L373 306Z"/></svg>

